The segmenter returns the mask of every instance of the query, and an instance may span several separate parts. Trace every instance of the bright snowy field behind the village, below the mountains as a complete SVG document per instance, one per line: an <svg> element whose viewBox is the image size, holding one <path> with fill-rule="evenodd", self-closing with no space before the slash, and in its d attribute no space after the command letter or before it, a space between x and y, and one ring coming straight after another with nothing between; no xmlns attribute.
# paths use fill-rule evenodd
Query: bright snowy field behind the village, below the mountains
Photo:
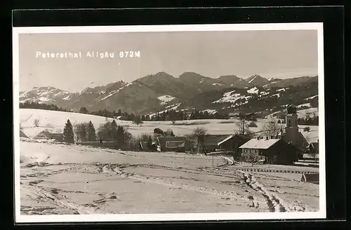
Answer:
<svg viewBox="0 0 351 230"><path fill-rule="evenodd" d="M34 120L39 120L39 127L34 127ZM41 109L20 109L20 123L23 128L23 132L28 137L34 137L37 133L42 130L51 130L52 132L60 132L63 130L65 123L69 119L72 125L79 122L91 121L95 128L97 129L100 124L106 122L106 118L102 116L94 116L89 114L77 114L69 113L64 111L48 111ZM107 119L112 121L112 119ZM250 128L251 132L258 132L262 130L263 125L270 120L268 119L258 119L256 122L258 127ZM161 130L167 130L168 128L173 130L175 135L183 136L192 134L193 130L197 127L206 128L209 134L218 135L230 135L237 130L236 119L229 120L188 120L188 121L176 121L172 123L171 121L145 121L144 123L137 125L131 121L119 121L117 123L125 128L133 135L138 136L143 133L152 134L154 128L161 128ZM284 128L284 124L282 124ZM317 142L318 138L318 126L310 126L310 132L304 132L303 128L305 126L300 126L300 132L307 138L310 142Z"/></svg>

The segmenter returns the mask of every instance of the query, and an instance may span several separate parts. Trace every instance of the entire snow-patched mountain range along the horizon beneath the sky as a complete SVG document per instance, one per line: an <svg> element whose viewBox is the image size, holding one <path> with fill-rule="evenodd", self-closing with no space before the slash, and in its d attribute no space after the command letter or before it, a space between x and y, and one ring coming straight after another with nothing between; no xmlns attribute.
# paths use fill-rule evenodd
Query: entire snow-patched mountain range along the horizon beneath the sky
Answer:
<svg viewBox="0 0 351 230"><path fill-rule="evenodd" d="M234 111L248 109L254 104L251 109L260 108L261 102L284 105L291 95L296 101L303 102L307 97L318 95L317 81L317 76L266 79L256 74L241 79L236 75L211 78L194 72L174 77L158 72L129 83L117 81L106 86L85 88L79 93L51 86L34 87L20 92L20 102L57 104L74 111L79 111L81 107L86 107L88 111L121 109L135 114L192 108ZM267 103L272 100L277 102Z"/></svg>

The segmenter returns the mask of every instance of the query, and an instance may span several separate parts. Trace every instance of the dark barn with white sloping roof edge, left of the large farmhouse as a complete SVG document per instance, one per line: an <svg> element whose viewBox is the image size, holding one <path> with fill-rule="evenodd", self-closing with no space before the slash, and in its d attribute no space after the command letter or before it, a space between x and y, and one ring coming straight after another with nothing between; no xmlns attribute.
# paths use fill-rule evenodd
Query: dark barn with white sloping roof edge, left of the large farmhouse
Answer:
<svg viewBox="0 0 351 230"><path fill-rule="evenodd" d="M200 135L195 145L198 152L233 151L246 141L246 137L242 135Z"/></svg>

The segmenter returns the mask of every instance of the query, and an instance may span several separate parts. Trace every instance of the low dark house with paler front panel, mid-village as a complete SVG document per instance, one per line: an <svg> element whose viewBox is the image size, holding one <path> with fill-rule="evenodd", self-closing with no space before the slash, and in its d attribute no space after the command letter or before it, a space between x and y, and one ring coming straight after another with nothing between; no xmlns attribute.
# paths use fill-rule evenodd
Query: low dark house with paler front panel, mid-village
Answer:
<svg viewBox="0 0 351 230"><path fill-rule="evenodd" d="M185 137L157 137L159 151L186 151L188 144Z"/></svg>

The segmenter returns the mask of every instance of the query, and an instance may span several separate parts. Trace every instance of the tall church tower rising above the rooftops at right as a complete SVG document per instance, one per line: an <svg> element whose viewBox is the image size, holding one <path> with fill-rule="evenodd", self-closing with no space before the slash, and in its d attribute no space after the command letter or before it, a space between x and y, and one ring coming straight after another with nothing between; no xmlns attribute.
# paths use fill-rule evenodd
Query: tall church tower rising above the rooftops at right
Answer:
<svg viewBox="0 0 351 230"><path fill-rule="evenodd" d="M296 106L291 103L286 109L285 140L291 144L298 144L298 138L298 114Z"/></svg>

